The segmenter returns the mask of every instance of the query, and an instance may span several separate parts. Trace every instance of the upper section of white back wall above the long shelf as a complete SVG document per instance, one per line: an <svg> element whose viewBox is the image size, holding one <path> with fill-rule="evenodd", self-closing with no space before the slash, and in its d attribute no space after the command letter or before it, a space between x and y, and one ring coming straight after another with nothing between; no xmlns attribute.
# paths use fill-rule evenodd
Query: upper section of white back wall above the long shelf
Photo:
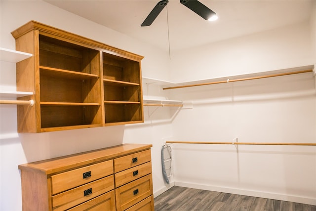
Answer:
<svg viewBox="0 0 316 211"><path fill-rule="evenodd" d="M310 23L173 52L171 79L196 81L311 65Z"/></svg>

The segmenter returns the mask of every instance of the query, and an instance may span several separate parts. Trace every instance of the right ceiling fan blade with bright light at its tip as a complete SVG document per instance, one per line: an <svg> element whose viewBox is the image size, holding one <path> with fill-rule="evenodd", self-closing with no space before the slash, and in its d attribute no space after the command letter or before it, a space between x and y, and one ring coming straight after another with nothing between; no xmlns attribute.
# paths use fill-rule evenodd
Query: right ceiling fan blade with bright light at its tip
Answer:
<svg viewBox="0 0 316 211"><path fill-rule="evenodd" d="M213 12L211 9L209 9L198 0L180 0L180 2L205 20L208 20L213 15L216 15L215 12Z"/></svg>

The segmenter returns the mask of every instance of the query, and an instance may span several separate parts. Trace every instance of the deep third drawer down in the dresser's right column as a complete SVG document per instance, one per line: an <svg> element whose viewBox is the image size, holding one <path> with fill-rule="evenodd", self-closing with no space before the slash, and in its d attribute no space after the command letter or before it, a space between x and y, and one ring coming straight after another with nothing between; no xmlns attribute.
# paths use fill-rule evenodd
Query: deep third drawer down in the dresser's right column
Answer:
<svg viewBox="0 0 316 211"><path fill-rule="evenodd" d="M115 190L117 210L123 211L153 194L152 174L148 174Z"/></svg>

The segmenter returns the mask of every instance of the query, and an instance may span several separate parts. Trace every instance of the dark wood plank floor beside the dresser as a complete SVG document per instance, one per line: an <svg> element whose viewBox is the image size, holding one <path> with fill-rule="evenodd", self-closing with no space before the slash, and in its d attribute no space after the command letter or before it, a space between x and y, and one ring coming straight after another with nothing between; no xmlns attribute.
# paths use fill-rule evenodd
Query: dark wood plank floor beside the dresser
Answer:
<svg viewBox="0 0 316 211"><path fill-rule="evenodd" d="M173 186L155 198L155 211L316 211L316 206Z"/></svg>

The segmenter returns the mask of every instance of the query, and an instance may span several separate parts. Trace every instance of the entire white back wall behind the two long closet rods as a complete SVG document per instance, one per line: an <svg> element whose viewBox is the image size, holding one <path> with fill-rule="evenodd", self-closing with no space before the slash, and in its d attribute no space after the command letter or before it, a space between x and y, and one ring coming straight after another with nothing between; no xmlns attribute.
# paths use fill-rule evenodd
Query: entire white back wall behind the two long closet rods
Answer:
<svg viewBox="0 0 316 211"><path fill-rule="evenodd" d="M173 53L171 80L313 65L311 26L295 24ZM174 119L173 140L315 143L315 84L313 73L305 73L169 90L171 98L193 105ZM175 185L316 205L314 146L172 148Z"/></svg>

